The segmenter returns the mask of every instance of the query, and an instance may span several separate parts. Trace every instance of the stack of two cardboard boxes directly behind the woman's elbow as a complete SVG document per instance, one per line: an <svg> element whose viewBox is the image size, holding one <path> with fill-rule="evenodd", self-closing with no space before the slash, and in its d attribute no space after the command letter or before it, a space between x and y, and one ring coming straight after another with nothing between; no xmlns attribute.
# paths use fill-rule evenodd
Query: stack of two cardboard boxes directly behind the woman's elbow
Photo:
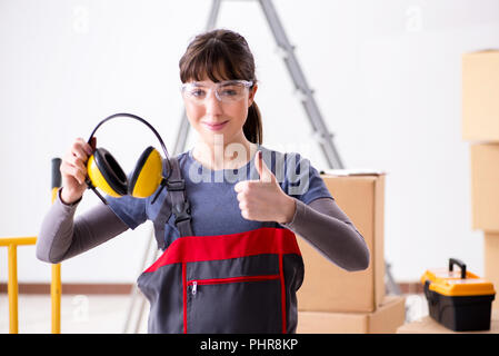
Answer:
<svg viewBox="0 0 499 356"><path fill-rule="evenodd" d="M370 263L346 271L299 237L305 280L297 333L395 333L405 320L405 298L385 296L385 175L335 170L321 178L366 239Z"/></svg>

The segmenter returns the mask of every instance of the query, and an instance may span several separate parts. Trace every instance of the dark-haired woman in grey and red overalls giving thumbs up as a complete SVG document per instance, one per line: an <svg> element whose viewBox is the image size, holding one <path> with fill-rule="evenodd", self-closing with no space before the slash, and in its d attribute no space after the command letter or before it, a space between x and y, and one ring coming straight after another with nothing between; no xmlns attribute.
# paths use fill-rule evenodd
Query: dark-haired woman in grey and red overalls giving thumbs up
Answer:
<svg viewBox="0 0 499 356"><path fill-rule="evenodd" d="M293 233L347 270L368 267L367 245L308 159L261 145L255 62L240 34L199 34L179 66L199 137L177 156L193 236L180 236L174 217L161 216L168 189L154 204L108 197L108 206L73 219L93 151L77 139L37 256L60 263L147 219L162 221L156 237L164 253L138 280L151 304L150 333L295 333L303 265Z"/></svg>

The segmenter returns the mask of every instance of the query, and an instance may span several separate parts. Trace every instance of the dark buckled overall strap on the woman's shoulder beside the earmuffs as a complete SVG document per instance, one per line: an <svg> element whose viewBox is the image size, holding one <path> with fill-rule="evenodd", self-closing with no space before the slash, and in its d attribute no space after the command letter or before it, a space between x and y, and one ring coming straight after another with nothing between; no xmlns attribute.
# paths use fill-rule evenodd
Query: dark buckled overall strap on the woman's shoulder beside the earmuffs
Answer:
<svg viewBox="0 0 499 356"><path fill-rule="evenodd" d="M171 175L163 185L168 194L163 204L153 220L154 236L158 247L164 249L164 225L174 215L174 225L179 229L180 236L193 236L190 215L190 204L186 195L186 181L182 179L179 161L176 157L170 157Z"/></svg>

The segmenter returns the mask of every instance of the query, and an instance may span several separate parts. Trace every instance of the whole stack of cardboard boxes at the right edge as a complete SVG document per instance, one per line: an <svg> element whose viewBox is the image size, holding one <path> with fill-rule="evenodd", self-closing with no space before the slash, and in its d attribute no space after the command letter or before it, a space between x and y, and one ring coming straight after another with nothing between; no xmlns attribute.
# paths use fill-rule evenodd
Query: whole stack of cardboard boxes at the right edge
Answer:
<svg viewBox="0 0 499 356"><path fill-rule="evenodd" d="M462 138L470 142L472 228L483 231L485 278L499 288L499 50L462 56ZM492 303L499 309L498 298Z"/></svg>

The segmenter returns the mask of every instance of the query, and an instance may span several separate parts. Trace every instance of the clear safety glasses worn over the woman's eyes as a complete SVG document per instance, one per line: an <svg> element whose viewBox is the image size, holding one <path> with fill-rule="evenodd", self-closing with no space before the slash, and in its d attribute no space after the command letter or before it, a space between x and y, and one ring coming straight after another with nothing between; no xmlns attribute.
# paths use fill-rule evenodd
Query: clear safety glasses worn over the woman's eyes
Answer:
<svg viewBox="0 0 499 356"><path fill-rule="evenodd" d="M241 100L248 92L248 88L252 86L251 81L229 80L221 81L214 86L206 86L200 82L188 82L182 85L183 96L191 102L203 105L206 98L209 98L214 90L216 98L224 103L237 102Z"/></svg>

